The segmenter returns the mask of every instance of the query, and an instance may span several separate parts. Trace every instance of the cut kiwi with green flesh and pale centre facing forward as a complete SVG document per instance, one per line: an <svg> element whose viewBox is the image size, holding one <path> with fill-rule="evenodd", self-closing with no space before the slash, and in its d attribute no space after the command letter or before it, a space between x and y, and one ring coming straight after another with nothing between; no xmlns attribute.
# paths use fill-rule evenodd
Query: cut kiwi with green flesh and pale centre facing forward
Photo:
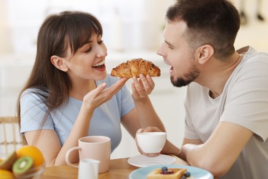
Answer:
<svg viewBox="0 0 268 179"><path fill-rule="evenodd" d="M24 156L14 162L12 171L14 176L23 176L34 166L34 160L30 156Z"/></svg>

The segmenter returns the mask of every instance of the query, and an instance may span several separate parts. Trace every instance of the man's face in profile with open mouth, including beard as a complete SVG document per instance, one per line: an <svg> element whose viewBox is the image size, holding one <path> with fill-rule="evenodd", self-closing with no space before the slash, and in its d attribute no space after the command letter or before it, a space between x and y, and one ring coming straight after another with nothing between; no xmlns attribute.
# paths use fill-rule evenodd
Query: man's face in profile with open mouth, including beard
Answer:
<svg viewBox="0 0 268 179"><path fill-rule="evenodd" d="M187 25L183 21L168 21L164 30L164 43L157 50L170 65L170 81L176 87L186 86L199 76L194 52L183 34Z"/></svg>

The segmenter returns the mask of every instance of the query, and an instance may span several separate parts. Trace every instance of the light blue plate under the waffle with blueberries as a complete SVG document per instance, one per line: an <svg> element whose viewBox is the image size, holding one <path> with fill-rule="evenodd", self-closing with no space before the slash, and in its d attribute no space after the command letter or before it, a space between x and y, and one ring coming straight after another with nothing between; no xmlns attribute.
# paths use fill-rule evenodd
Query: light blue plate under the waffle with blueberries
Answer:
<svg viewBox="0 0 268 179"><path fill-rule="evenodd" d="M187 165L154 165L150 167L144 167L140 169L135 169L129 175L130 179L146 179L146 176L150 171L153 169L161 169L161 167L168 167L168 168L185 168L188 172L190 172L191 177L194 179L213 179L212 173L206 171L204 169L200 169L198 167L192 167Z"/></svg>

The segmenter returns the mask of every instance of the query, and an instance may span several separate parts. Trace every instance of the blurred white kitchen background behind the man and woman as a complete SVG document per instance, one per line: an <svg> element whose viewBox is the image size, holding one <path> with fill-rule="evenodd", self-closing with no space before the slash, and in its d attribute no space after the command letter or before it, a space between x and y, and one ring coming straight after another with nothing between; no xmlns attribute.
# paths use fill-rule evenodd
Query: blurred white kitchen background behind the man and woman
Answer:
<svg viewBox="0 0 268 179"><path fill-rule="evenodd" d="M156 50L163 41L165 12L173 0L0 0L0 116L15 114L16 98L32 69L38 28L48 14L63 10L91 12L102 23L103 40L109 50L107 71L123 61L144 58L161 68L150 98L178 147L183 136L185 88L172 87L169 69ZM235 42L236 48L252 45L268 52L268 1L233 0L243 10L247 23ZM259 3L259 4L258 4ZM261 4L260 4L261 3ZM260 7L258 9L258 7ZM262 14L264 21L257 18ZM165 102L166 104L164 104ZM0 126L1 130L1 126ZM1 139L1 136L0 136ZM134 140L123 129L122 143L112 158L137 155Z"/></svg>

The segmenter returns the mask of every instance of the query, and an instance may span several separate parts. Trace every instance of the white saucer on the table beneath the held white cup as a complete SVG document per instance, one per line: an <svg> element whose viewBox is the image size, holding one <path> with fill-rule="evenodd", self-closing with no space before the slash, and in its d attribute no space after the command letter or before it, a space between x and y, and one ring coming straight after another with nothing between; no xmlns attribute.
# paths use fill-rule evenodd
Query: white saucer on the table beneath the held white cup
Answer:
<svg viewBox="0 0 268 179"><path fill-rule="evenodd" d="M143 155L133 156L128 160L129 164L135 167L148 167L152 165L170 165L175 161L176 158L162 154L156 157L148 157Z"/></svg>

